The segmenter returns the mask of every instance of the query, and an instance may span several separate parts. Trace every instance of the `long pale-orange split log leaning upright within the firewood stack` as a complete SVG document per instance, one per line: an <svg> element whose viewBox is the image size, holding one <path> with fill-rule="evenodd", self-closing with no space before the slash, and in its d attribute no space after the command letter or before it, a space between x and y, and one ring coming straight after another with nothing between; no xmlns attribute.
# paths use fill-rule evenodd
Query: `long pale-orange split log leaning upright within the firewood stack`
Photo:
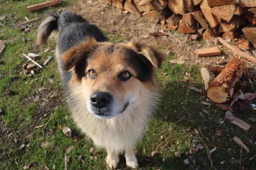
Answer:
<svg viewBox="0 0 256 170"><path fill-rule="evenodd" d="M204 14L205 19L208 21L211 28L219 25L219 22L216 20L214 15L212 15L211 7L208 5L207 0L202 0L200 8Z"/></svg>

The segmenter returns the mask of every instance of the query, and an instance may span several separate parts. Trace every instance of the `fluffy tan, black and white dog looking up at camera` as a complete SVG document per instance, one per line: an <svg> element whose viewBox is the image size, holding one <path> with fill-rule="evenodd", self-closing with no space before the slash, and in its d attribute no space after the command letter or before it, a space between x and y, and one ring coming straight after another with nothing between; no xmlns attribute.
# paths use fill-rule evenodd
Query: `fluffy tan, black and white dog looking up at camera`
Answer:
<svg viewBox="0 0 256 170"><path fill-rule="evenodd" d="M66 102L76 125L107 150L116 168L138 168L133 149L161 97L155 71L165 54L140 39L112 43L98 27L71 11L49 13L38 27L37 44L57 32L56 61Z"/></svg>

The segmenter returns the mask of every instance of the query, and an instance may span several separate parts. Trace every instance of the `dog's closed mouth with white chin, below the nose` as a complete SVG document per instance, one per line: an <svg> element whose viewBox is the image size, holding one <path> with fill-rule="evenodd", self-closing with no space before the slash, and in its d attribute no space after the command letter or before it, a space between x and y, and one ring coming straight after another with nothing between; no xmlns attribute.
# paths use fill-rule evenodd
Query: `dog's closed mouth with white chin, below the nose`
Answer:
<svg viewBox="0 0 256 170"><path fill-rule="evenodd" d="M129 102L125 103L122 111L118 112L117 114L115 114L115 113L111 114L111 110L109 109L109 106L104 107L104 108L100 108L100 109L99 108L94 108L93 112L94 112L95 116L98 117L98 118L108 119L108 118L112 118L112 117L114 117L118 114L123 113L127 109L128 106L129 106Z"/></svg>

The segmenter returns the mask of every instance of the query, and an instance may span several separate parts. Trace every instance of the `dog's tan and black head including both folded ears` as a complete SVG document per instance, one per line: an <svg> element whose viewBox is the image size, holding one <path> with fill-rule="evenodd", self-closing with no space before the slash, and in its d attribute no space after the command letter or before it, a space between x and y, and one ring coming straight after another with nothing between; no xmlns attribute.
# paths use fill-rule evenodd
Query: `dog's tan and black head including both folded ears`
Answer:
<svg viewBox="0 0 256 170"><path fill-rule="evenodd" d="M88 38L63 53L62 59L64 69L73 71L70 83L82 86L87 110L111 118L148 99L164 54L138 40L113 44Z"/></svg>

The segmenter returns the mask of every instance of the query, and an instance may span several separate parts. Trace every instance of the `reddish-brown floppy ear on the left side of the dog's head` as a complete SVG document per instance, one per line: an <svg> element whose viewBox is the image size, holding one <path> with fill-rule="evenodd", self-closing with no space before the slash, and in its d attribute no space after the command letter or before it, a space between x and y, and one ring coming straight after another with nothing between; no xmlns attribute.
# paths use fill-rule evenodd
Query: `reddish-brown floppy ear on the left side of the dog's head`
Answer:
<svg viewBox="0 0 256 170"><path fill-rule="evenodd" d="M78 45L70 48L62 54L64 61L64 70L69 71L81 63L86 62L90 53L92 53L99 44L95 39L87 38L86 41L80 42Z"/></svg>

